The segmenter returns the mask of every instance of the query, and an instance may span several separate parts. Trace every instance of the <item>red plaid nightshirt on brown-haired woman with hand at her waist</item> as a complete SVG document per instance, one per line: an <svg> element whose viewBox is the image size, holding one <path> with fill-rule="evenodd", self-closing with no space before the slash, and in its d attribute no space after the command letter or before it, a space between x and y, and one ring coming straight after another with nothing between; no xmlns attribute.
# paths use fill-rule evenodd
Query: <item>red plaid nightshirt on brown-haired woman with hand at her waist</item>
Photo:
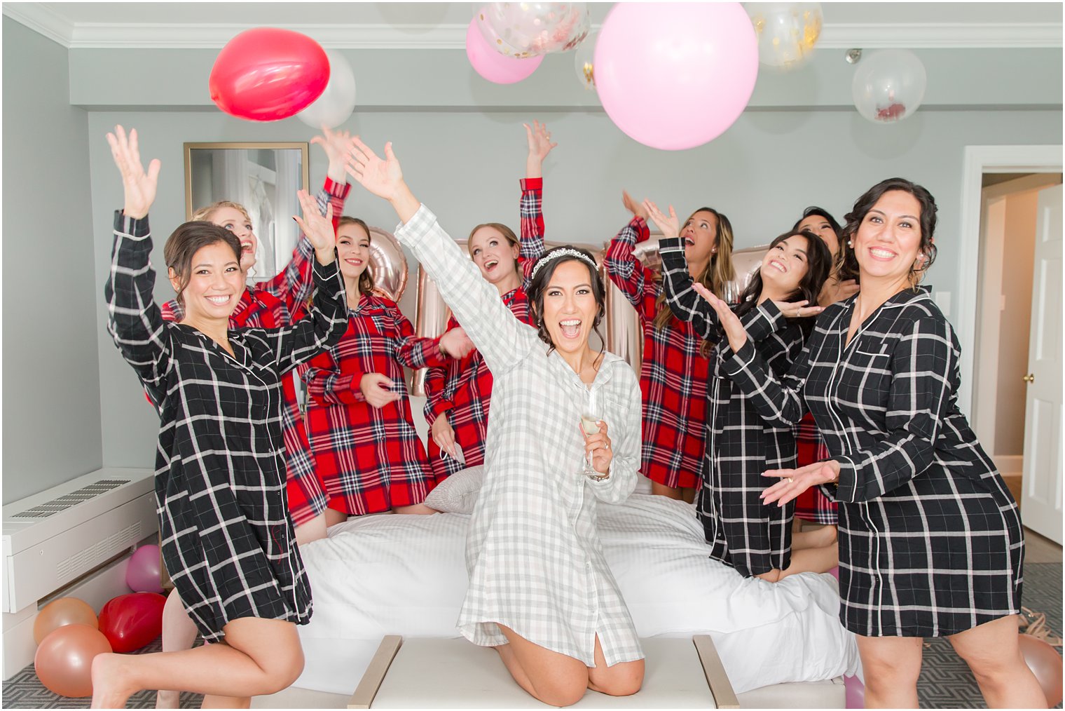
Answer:
<svg viewBox="0 0 1065 711"><path fill-rule="evenodd" d="M395 302L362 294L348 309L340 343L315 356L304 373L307 434L329 507L375 514L425 501L436 486L425 447L414 430L403 367L443 366L440 339L416 338ZM403 398L377 408L359 384L366 373L393 381Z"/></svg>

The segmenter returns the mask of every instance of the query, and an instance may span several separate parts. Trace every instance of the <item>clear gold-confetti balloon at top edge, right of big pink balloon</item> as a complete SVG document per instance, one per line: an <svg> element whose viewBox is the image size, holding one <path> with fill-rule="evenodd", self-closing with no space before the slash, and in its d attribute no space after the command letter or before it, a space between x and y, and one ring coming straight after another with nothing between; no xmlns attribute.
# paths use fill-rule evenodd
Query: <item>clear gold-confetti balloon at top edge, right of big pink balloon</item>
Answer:
<svg viewBox="0 0 1065 711"><path fill-rule="evenodd" d="M747 14L758 36L758 62L792 68L807 59L821 36L819 2L748 2Z"/></svg>

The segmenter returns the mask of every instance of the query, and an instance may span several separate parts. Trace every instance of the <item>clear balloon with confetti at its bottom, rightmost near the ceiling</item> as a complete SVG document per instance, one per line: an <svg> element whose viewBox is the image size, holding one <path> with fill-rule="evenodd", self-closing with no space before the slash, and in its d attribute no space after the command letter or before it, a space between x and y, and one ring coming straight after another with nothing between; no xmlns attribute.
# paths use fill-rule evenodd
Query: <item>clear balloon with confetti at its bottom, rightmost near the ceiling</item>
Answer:
<svg viewBox="0 0 1065 711"><path fill-rule="evenodd" d="M913 52L885 49L858 62L851 93L854 108L874 124L908 118L924 99L928 74Z"/></svg>

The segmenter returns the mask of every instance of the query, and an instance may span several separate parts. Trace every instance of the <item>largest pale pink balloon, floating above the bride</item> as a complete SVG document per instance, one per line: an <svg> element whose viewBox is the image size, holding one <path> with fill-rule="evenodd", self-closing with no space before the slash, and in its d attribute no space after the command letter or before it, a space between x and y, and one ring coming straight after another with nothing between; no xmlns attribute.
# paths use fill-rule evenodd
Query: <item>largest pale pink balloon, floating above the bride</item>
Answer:
<svg viewBox="0 0 1065 711"><path fill-rule="evenodd" d="M618 128L652 148L684 150L743 113L758 77L758 41L738 2L619 2L593 64L600 101Z"/></svg>

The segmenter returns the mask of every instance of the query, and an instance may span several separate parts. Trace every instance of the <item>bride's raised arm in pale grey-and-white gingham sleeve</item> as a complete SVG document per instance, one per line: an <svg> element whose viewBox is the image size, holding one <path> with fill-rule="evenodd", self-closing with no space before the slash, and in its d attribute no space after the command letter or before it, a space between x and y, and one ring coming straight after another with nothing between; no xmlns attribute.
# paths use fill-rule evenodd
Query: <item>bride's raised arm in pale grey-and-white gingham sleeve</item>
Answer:
<svg viewBox="0 0 1065 711"><path fill-rule="evenodd" d="M358 138L354 141L348 171L363 188L392 204L403 223L396 239L414 253L488 367L496 373L512 368L535 346L536 332L507 308L437 216L414 197L392 144L386 144L382 160Z"/></svg>

